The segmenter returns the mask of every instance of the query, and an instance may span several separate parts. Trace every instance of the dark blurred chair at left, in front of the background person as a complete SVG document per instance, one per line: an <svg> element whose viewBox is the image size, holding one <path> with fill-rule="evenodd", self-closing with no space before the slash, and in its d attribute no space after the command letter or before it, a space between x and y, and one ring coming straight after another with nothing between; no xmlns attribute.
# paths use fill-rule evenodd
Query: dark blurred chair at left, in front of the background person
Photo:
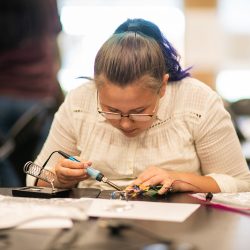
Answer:
<svg viewBox="0 0 250 250"><path fill-rule="evenodd" d="M25 186L26 176L23 173L23 166L27 161L34 160L41 149L43 143L41 133L52 116L54 107L55 103L51 100L30 107L16 121L9 133L0 137L0 167L13 168L7 169L7 172L14 171L17 174L19 186ZM5 183L8 182L11 183L8 180Z"/></svg>

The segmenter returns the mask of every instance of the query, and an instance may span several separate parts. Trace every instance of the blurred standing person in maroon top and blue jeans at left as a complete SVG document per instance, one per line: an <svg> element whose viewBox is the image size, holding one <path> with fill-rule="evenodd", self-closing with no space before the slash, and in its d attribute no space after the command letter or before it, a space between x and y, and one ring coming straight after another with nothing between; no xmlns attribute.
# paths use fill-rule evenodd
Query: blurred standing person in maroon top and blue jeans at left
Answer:
<svg viewBox="0 0 250 250"><path fill-rule="evenodd" d="M50 102L54 104L53 109L40 131L36 150L42 147L53 114L64 99L57 80L60 68L57 36L61 29L56 0L0 1L2 140L32 106ZM0 186L23 185L15 168L0 158Z"/></svg>

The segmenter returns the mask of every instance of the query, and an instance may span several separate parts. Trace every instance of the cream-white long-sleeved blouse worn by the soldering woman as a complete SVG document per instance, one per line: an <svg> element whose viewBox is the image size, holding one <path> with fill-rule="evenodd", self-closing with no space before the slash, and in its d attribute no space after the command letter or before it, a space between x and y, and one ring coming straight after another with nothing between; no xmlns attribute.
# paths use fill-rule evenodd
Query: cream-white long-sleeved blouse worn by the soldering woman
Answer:
<svg viewBox="0 0 250 250"><path fill-rule="evenodd" d="M218 94L202 82L185 78L170 82L157 118L140 135L129 138L97 112L97 91L88 82L68 93L35 163L62 150L90 160L117 185L127 186L149 166L209 175L222 192L250 191L250 172L241 146ZM46 168L61 157L55 154ZM27 177L27 185L34 178ZM88 179L79 187L110 189Z"/></svg>

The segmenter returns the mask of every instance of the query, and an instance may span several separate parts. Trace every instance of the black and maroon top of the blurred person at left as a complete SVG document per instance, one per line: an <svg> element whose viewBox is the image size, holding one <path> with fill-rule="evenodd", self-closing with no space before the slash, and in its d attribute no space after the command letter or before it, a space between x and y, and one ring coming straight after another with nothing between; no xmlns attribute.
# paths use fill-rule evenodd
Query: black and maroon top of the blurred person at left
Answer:
<svg viewBox="0 0 250 250"><path fill-rule="evenodd" d="M0 1L0 95L60 97L55 0Z"/></svg>

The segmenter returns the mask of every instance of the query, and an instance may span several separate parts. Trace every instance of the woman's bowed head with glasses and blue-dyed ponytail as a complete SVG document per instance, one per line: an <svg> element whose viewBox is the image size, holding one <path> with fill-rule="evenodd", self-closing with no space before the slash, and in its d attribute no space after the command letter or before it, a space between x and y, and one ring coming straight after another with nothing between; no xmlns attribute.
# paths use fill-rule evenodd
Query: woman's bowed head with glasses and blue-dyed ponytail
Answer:
<svg viewBox="0 0 250 250"><path fill-rule="evenodd" d="M177 59L156 25L143 19L127 20L95 59L98 112L128 137L150 128L168 80L188 75Z"/></svg>

